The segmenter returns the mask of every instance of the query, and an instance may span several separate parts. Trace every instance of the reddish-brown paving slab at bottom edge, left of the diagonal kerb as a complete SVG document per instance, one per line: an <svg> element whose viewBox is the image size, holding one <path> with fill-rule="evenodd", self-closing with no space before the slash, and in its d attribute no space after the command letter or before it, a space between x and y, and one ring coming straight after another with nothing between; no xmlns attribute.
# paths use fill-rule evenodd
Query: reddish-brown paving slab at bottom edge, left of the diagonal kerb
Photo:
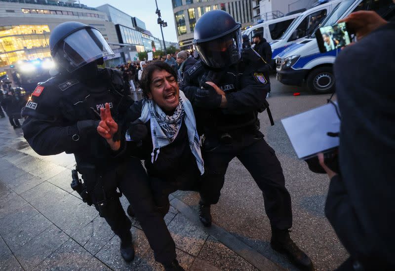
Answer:
<svg viewBox="0 0 395 271"><path fill-rule="evenodd" d="M254 271L255 269L250 263L212 236L207 238L197 258L222 270Z"/></svg>

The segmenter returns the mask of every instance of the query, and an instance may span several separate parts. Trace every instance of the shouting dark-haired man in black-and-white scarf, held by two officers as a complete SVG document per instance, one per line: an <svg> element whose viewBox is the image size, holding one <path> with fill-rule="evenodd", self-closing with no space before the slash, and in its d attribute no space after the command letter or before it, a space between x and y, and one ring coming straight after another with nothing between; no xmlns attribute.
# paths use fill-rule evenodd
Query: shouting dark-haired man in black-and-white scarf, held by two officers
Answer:
<svg viewBox="0 0 395 271"><path fill-rule="evenodd" d="M132 189L123 193L155 259L166 271L182 271L163 217L170 207L169 194L177 190L199 190L204 165L195 116L191 103L179 91L176 72L166 63L147 65L141 87L144 99L134 103L127 113L128 121L132 121L126 134L127 149L129 154L144 160L149 182L133 178ZM104 125L99 130L108 128Z"/></svg>

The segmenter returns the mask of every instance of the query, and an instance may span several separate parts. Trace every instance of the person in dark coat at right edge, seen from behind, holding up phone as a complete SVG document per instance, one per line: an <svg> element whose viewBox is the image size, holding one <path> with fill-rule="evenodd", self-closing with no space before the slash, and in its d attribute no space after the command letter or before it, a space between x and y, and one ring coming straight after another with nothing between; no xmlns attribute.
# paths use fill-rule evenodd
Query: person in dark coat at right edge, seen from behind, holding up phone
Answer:
<svg viewBox="0 0 395 271"><path fill-rule="evenodd" d="M334 65L340 172L319 155L331 179L325 215L350 253L338 270L395 270L395 23L373 11L342 21L358 41Z"/></svg>

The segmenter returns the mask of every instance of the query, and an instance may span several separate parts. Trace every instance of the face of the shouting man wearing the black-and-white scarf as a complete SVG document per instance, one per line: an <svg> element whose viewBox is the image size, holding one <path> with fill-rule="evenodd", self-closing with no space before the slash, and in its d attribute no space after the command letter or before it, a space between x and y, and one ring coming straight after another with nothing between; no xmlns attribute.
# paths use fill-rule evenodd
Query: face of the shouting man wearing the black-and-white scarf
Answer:
<svg viewBox="0 0 395 271"><path fill-rule="evenodd" d="M151 92L148 98L153 99L164 112L172 112L179 103L178 82L165 70L152 74Z"/></svg>

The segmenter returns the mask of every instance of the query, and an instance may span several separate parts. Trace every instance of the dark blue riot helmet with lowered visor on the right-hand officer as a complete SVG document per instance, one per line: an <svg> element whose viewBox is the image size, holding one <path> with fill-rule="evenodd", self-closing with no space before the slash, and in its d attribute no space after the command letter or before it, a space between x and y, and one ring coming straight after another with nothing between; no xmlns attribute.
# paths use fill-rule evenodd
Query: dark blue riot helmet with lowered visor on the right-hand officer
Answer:
<svg viewBox="0 0 395 271"><path fill-rule="evenodd" d="M204 13L196 22L193 44L211 68L237 63L241 58L241 24L223 10Z"/></svg>

